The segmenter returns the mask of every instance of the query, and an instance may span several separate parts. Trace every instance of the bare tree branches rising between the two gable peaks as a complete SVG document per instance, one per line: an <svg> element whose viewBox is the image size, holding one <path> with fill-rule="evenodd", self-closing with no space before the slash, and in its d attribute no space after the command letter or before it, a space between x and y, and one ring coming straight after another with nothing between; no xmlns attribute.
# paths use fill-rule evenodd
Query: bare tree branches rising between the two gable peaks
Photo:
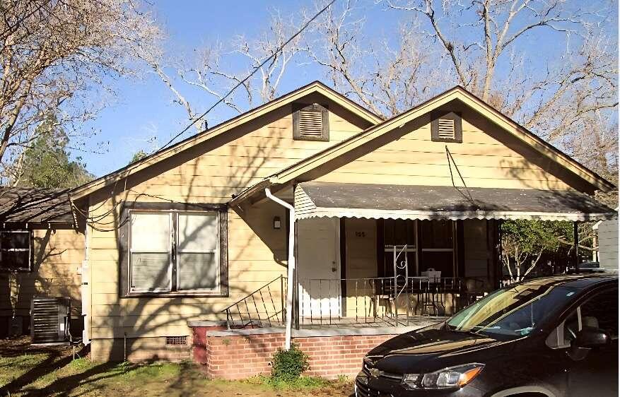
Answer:
<svg viewBox="0 0 620 397"><path fill-rule="evenodd" d="M322 8L319 2L315 8ZM371 40L354 0L334 4L313 24L305 40L308 57L323 66L337 90L376 114L399 114L445 86L440 52L428 49L426 35L412 20L399 28L399 42Z"/></svg>

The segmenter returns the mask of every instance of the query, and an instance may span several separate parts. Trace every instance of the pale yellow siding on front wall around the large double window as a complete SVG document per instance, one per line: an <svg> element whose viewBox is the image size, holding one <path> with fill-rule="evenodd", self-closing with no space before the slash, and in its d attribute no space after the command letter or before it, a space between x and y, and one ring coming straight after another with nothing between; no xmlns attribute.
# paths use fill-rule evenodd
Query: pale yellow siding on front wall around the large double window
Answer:
<svg viewBox="0 0 620 397"><path fill-rule="evenodd" d="M271 201L228 211L228 297L119 298L119 251L114 227L119 201L226 203L231 195L283 167L361 131L330 107L329 142L294 141L291 106L269 114L241 131L231 130L222 146L200 146L134 174L120 191L90 196L90 215L112 211L100 223L110 231L90 229L92 288L91 335L100 338L189 335L187 321L225 319L222 309L286 275L286 212ZM266 120L268 122L266 122ZM230 138L233 137L233 138ZM120 185L120 184L119 184ZM274 230L273 218L283 227ZM277 292L274 299L280 300ZM121 342L122 343L122 340ZM110 348L112 349L112 348ZM105 350L105 349L104 349ZM99 351L99 350L98 350ZM102 353L103 354L103 353ZM99 357L105 359L105 357Z"/></svg>

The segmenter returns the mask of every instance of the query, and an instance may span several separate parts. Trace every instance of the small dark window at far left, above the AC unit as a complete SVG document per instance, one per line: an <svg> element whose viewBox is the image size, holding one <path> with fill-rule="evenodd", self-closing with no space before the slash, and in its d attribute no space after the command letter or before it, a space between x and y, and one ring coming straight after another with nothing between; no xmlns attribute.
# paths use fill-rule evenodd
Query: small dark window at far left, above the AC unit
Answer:
<svg viewBox="0 0 620 397"><path fill-rule="evenodd" d="M29 230L0 231L0 271L30 271L32 254Z"/></svg>

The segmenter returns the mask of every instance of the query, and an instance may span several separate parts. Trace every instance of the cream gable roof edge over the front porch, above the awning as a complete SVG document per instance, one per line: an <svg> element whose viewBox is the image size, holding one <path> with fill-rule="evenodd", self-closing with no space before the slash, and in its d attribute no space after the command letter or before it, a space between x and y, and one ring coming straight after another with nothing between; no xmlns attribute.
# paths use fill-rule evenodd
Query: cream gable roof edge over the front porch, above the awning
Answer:
<svg viewBox="0 0 620 397"><path fill-rule="evenodd" d="M389 131L397 129L407 122L421 117L423 114L427 114L428 112L431 112L431 110L436 109L441 105L445 105L452 100L460 100L465 105L481 114L483 117L486 117L486 119L489 119L503 130L508 131L508 133L512 134L516 138L519 138L520 141L537 150L542 155L545 155L547 158L550 158L562 167L570 170L574 174L577 174L578 177L584 179L593 186L596 186L597 189L609 191L615 187L612 182L607 181L607 179L604 179L596 172L585 167L585 165L582 165L577 160L571 158L571 156L547 143L542 138L532 133L532 131L526 129L513 119L510 119L510 117L491 107L491 105L465 90L460 85L457 85L454 88L451 88L450 90L447 90L444 93L441 93L402 114L380 122L379 124L375 124L359 134L351 136L350 138L347 138L334 146L315 153L314 155L311 155L296 164L276 172L276 174L269 177L269 182L272 184L283 184L289 182L298 177L300 174L303 174L308 170L312 170L313 168L322 165L324 162L332 160L339 155L343 155L344 153L358 148L364 143L386 134Z"/></svg>

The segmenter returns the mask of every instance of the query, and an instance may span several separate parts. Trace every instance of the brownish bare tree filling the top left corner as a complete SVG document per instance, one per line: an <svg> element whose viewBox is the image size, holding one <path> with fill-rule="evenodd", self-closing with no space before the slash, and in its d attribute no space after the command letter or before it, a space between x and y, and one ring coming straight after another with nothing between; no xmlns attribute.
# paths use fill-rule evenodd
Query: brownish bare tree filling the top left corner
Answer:
<svg viewBox="0 0 620 397"><path fill-rule="evenodd" d="M81 124L113 93L109 82L135 75L136 55L151 51L160 35L134 0L2 0L0 13L4 170L21 164L50 114L68 136L83 134Z"/></svg>

